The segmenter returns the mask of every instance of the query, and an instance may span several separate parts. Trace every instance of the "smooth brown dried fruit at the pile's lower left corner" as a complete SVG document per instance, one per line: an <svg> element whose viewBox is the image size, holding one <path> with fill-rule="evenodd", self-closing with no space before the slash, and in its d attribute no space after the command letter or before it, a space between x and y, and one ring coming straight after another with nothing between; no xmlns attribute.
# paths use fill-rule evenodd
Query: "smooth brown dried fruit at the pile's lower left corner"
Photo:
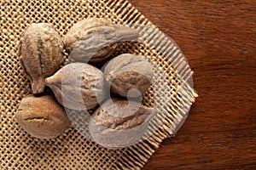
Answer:
<svg viewBox="0 0 256 170"><path fill-rule="evenodd" d="M52 139L71 126L64 108L53 96L26 96L16 112L17 121L38 139Z"/></svg>

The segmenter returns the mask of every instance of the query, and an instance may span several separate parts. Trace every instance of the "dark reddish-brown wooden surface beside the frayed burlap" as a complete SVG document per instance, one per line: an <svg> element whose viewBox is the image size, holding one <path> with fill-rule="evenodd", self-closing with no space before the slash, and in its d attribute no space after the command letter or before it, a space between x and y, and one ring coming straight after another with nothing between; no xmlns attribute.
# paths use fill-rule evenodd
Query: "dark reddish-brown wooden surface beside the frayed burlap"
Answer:
<svg viewBox="0 0 256 170"><path fill-rule="evenodd" d="M256 169L256 1L130 2L177 42L199 94L144 169Z"/></svg>

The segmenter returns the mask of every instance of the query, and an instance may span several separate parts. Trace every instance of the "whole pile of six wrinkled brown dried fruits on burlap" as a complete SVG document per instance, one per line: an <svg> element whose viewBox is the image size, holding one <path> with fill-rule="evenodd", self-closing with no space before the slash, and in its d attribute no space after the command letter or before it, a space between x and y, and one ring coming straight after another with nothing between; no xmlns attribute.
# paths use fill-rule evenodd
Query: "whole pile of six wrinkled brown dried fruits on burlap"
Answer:
<svg viewBox="0 0 256 170"><path fill-rule="evenodd" d="M135 54L111 59L104 72L87 62L107 59L119 44L138 37L135 29L96 18L79 21L63 42L49 24L29 26L21 36L19 56L33 94L21 100L16 112L20 127L37 138L55 138L71 127L64 107L95 109L89 128L97 143L121 147L135 142L141 137L138 134L143 134L139 125L151 115L152 108L124 97L137 99L148 91L151 65ZM73 63L61 68L64 49ZM44 94L45 86L55 97ZM110 99L110 91L119 97Z"/></svg>

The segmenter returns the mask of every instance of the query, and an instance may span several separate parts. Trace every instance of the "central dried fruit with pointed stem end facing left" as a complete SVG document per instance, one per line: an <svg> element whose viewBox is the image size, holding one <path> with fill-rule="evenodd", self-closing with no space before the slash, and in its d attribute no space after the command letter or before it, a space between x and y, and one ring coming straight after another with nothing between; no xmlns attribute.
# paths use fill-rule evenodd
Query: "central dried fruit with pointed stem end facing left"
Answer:
<svg viewBox="0 0 256 170"><path fill-rule="evenodd" d="M107 94L102 71L85 63L65 65L45 82L61 105L77 111L93 109Z"/></svg>

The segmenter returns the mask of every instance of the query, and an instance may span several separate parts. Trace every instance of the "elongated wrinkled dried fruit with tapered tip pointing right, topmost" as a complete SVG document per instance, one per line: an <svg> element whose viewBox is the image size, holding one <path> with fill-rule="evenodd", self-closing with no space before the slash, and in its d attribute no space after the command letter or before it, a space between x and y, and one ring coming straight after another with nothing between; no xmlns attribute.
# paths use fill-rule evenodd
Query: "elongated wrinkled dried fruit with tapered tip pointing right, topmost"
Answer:
<svg viewBox="0 0 256 170"><path fill-rule="evenodd" d="M107 59L122 42L137 40L137 30L114 25L102 18L80 20L70 28L64 40L72 59L98 62Z"/></svg>

